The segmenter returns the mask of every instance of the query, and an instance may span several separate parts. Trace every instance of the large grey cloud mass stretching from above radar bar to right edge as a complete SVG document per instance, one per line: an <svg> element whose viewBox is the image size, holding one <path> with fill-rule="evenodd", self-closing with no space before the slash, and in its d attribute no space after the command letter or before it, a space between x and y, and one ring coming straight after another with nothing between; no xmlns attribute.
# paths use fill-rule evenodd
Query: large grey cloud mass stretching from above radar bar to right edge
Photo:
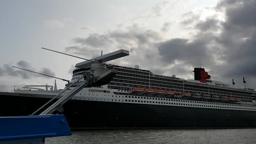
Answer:
<svg viewBox="0 0 256 144"><path fill-rule="evenodd" d="M164 4L154 7L151 16L161 15ZM156 74L193 77L194 67L204 67L212 79L227 82L243 76L256 79L256 1L220 1L202 12L183 14L181 27L193 29L189 37L164 38L170 23L162 30L145 29L137 24L73 39L66 51L93 58L118 49L130 50L129 57L113 61L116 65L139 65ZM205 18L204 18L205 17ZM202 19L203 18L203 19ZM256 85L254 85L256 86Z"/></svg>

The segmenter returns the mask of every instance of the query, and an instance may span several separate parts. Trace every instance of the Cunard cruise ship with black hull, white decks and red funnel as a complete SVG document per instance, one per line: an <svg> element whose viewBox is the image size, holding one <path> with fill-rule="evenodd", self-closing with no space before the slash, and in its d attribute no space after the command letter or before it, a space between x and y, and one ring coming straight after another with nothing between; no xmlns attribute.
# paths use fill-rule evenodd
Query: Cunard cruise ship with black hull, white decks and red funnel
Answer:
<svg viewBox="0 0 256 144"><path fill-rule="evenodd" d="M89 84L114 70L63 105L59 112L65 114L71 128L256 127L256 92L246 87L245 80L243 88L236 88L234 81L232 85L213 81L204 68L194 68L194 79L186 80L157 75L138 66L106 63L127 55L129 51L119 50L77 63L64 90L41 85L45 89L25 86L14 92L0 92L0 116L31 115L56 95L59 99L79 83ZM85 73L90 73L92 79Z"/></svg>

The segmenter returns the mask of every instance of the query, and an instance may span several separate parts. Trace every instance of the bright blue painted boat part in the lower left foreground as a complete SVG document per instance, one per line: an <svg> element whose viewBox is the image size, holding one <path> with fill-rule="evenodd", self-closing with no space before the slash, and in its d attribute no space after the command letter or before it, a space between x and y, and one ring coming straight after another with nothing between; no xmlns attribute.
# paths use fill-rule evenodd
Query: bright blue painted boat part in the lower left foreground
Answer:
<svg viewBox="0 0 256 144"><path fill-rule="evenodd" d="M0 144L44 143L45 138L71 135L64 115L0 117Z"/></svg>

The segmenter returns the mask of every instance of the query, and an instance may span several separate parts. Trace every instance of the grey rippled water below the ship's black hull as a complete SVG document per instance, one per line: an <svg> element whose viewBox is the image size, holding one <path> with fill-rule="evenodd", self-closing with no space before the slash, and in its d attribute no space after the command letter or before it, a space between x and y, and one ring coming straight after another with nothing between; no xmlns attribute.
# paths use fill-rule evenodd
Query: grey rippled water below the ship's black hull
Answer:
<svg viewBox="0 0 256 144"><path fill-rule="evenodd" d="M256 143L256 129L87 130L46 143Z"/></svg>

